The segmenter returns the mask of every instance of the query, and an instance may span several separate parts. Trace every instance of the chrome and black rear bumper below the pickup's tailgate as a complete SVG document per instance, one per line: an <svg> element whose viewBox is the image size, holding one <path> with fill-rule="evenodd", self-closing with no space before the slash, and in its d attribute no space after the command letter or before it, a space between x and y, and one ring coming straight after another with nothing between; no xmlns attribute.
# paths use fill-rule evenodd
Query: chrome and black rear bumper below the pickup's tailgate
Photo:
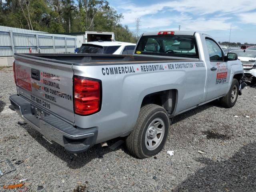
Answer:
<svg viewBox="0 0 256 192"><path fill-rule="evenodd" d="M75 128L16 94L11 95L9 99L12 104L10 109L15 110L25 122L30 124L30 126L43 136L64 146L68 152L80 153L95 144L98 135L97 128ZM34 115L35 108L42 110L45 116L37 118Z"/></svg>

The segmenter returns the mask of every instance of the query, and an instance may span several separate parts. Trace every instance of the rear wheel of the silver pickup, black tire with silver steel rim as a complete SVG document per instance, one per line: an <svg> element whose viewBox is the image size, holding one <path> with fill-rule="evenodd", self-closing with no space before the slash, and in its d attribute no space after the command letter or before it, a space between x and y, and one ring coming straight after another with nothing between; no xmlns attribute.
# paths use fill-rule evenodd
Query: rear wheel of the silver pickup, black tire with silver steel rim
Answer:
<svg viewBox="0 0 256 192"><path fill-rule="evenodd" d="M166 142L170 119L164 108L148 104L140 108L134 129L126 138L129 152L137 158L158 154Z"/></svg>

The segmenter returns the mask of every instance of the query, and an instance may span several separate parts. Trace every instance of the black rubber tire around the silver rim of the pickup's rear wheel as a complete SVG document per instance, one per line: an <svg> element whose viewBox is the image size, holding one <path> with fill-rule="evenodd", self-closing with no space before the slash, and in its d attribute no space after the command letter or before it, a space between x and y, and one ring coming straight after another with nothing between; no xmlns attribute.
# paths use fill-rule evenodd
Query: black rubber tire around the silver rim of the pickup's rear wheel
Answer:
<svg viewBox="0 0 256 192"><path fill-rule="evenodd" d="M162 140L158 142L158 146L156 145L156 149L148 150L145 144L145 137L148 133L148 128L150 124L152 124L156 119L160 119L162 124L164 124L164 129L162 130L163 136L161 136ZM140 159L148 158L158 154L162 150L166 142L169 132L169 126L170 118L166 110L161 106L155 104L148 104L140 108L140 113L136 125L134 126L134 129L132 130L130 135L126 138L126 146L130 154ZM162 129L162 126L160 126L160 129Z"/></svg>

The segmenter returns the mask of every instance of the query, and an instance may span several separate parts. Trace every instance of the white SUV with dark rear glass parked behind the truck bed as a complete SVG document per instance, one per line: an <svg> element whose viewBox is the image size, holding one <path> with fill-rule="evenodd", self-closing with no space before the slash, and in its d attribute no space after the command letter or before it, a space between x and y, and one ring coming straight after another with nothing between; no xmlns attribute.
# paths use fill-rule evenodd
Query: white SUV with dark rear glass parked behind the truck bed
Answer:
<svg viewBox="0 0 256 192"><path fill-rule="evenodd" d="M135 46L136 44L127 42L96 41L82 44L77 53L131 55Z"/></svg>

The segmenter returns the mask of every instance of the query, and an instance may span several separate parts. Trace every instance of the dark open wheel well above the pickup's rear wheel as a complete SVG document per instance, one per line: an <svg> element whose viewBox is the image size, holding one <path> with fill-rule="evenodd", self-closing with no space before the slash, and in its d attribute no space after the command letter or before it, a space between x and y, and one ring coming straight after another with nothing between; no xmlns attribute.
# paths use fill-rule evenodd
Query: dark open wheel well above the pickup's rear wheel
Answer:
<svg viewBox="0 0 256 192"><path fill-rule="evenodd" d="M162 106L169 114L172 114L175 108L176 98L176 89L154 92L143 98L141 106L146 104L156 104Z"/></svg>

